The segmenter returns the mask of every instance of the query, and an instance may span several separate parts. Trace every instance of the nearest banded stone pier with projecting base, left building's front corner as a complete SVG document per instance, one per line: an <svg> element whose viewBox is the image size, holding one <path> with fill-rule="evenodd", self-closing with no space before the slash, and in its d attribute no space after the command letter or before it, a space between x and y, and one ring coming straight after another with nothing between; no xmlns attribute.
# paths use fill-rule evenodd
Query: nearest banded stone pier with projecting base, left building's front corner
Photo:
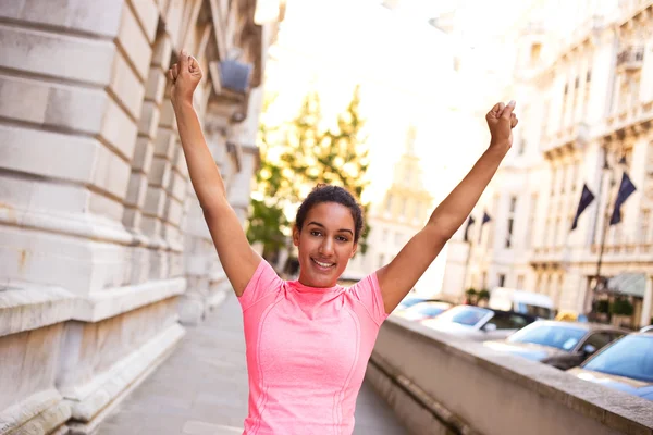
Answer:
<svg viewBox="0 0 653 435"><path fill-rule="evenodd" d="M149 156L165 63L152 48L168 17L149 0L10 3L0 8L12 23L0 25L0 66L14 71L0 74L10 287L0 291L0 414L10 426L0 426L47 433L72 417L86 433L183 335L182 274L149 279L134 256L148 243L143 186L158 170ZM173 209L165 223L177 221Z"/></svg>

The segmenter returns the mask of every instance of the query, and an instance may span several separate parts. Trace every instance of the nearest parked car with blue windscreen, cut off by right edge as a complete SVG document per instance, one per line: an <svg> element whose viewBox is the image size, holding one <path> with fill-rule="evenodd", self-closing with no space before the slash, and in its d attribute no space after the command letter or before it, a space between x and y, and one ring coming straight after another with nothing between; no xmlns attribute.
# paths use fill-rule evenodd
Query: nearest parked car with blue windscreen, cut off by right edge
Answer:
<svg viewBox="0 0 653 435"><path fill-rule="evenodd" d="M627 335L567 373L653 400L653 334Z"/></svg>

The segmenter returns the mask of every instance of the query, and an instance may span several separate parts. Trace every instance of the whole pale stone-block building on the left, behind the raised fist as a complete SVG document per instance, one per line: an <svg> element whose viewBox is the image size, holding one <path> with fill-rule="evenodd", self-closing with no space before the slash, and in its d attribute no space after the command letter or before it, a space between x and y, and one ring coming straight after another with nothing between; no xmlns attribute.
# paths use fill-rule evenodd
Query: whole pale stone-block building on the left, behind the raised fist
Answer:
<svg viewBox="0 0 653 435"><path fill-rule="evenodd" d="M2 2L0 434L93 432L173 350L180 314L197 322L227 290L165 72L182 48L200 62L195 105L244 221L282 15L279 1Z"/></svg>

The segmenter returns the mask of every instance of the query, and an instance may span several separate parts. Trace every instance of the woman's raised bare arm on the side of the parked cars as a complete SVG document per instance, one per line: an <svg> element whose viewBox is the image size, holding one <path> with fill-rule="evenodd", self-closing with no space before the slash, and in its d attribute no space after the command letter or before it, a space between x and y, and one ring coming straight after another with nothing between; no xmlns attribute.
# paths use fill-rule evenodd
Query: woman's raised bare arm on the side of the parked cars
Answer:
<svg viewBox="0 0 653 435"><path fill-rule="evenodd" d="M390 313L415 286L444 245L458 231L513 145L515 102L497 103L485 116L490 147L454 190L435 208L427 225L387 265L377 272L385 312Z"/></svg>

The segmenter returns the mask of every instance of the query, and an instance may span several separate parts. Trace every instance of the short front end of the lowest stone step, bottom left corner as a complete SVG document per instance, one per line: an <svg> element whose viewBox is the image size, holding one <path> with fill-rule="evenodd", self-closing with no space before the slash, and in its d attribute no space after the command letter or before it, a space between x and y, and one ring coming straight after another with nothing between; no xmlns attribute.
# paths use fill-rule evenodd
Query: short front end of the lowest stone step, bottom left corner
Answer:
<svg viewBox="0 0 653 435"><path fill-rule="evenodd" d="M59 391L47 389L2 410L0 435L52 432L71 418L71 408L62 400Z"/></svg>

